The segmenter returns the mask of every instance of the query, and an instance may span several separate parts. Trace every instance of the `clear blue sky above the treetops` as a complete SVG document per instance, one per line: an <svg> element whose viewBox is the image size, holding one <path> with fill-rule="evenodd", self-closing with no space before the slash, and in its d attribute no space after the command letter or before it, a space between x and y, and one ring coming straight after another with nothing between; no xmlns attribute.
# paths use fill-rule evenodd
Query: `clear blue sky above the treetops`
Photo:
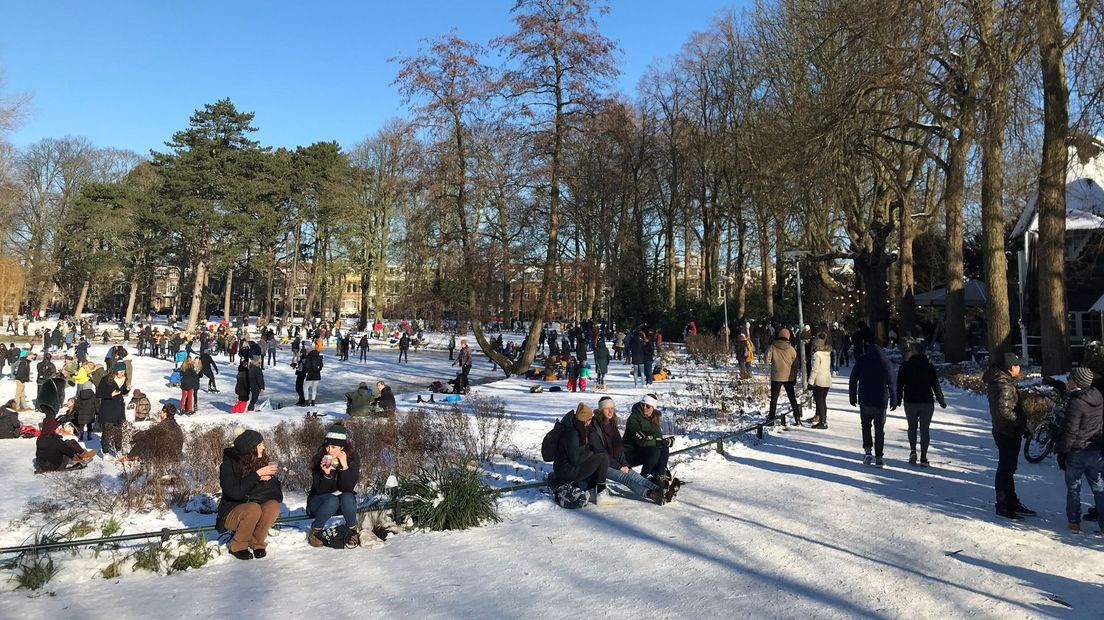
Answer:
<svg viewBox="0 0 1104 620"><path fill-rule="evenodd" d="M622 50L618 88L634 93L656 58L747 0L620 0L602 18ZM204 103L256 113L268 146L351 146L405 116L388 58L456 28L478 42L510 32L512 0L18 1L4 10L6 93L33 99L18 147L87 136L145 154Z"/></svg>

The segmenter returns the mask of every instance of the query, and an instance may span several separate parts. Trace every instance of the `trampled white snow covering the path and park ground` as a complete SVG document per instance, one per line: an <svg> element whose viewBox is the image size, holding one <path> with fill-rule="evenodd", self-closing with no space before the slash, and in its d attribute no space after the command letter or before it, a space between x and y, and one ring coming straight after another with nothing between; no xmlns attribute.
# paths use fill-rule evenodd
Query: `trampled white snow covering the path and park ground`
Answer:
<svg viewBox="0 0 1104 620"><path fill-rule="evenodd" d="M327 363L337 364L329 356ZM348 384L393 372L391 355L380 364L367 373L348 370ZM426 384L447 368L447 360L428 354L425 364ZM489 372L486 361L476 365ZM150 385L136 386L148 387L155 400L174 397L158 386L168 365L150 366L139 371ZM613 368L611 395L624 414L641 391L633 388L627 367ZM283 368L273 374L287 375L277 382L290 377ZM684 393L686 378L655 387ZM537 453L549 423L581 395L530 394L529 385L503 380L477 391L507 400L519 418L518 449ZM12 389L10 380L0 382L0 398ZM231 385L223 389L201 394L201 414L184 423L233 419L266 428L301 415L285 408L230 416L220 404L233 399ZM1104 537L1065 532L1064 487L1053 459L1020 466L1020 495L1040 516L998 520L996 450L984 399L947 391L949 407L937 409L933 423L931 469L907 466L904 419L892 413L889 467L879 470L859 460L858 413L846 389L847 377L838 377L827 431L779 431L762 443L726 445L724 456L702 450L683 459L678 474L689 484L666 506L622 498L611 506L565 511L531 491L505 495L497 525L403 534L372 548L315 549L301 531L283 528L266 559L223 555L169 577L135 573L104 580L94 563L73 563L47 586L55 596L0 594L0 616L150 618L171 609L173 617L195 618L1100 618ZM596 395L582 399L594 404ZM0 445L8 474L0 523L42 492L41 477L29 474L31 453L28 440ZM180 519L150 516L127 530ZM0 544L25 537L19 527L0 532Z"/></svg>

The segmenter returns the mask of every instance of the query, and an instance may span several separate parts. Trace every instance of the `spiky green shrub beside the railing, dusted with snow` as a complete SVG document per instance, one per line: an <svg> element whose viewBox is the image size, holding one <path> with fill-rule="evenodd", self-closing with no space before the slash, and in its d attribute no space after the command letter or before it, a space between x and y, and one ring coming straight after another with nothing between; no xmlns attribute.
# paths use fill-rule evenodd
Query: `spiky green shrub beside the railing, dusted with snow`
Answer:
<svg viewBox="0 0 1104 620"><path fill-rule="evenodd" d="M399 507L416 527L466 530L498 522L497 504L479 470L467 462L440 460L400 479Z"/></svg>

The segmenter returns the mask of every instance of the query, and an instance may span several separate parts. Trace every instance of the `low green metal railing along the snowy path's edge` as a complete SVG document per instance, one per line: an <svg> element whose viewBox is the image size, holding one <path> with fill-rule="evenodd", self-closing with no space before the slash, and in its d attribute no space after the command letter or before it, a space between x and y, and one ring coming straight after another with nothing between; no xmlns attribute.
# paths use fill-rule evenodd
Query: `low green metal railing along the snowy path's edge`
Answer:
<svg viewBox="0 0 1104 620"><path fill-rule="evenodd" d="M672 452L670 452L670 455L671 456L681 455L683 452L689 452L691 450L700 450L701 448L707 448L707 447L713 447L714 449L716 449L718 452L720 452L720 453L723 455L724 453L724 442L725 441L731 441L731 440L735 439L736 437L741 437L741 436L747 435L749 432L752 432L752 431L755 431L755 437L757 437L758 439L763 439L763 425L762 424L755 424L755 425L752 425L752 426L747 426L747 427L741 428L739 430L734 430L732 432L728 432L728 434L722 435L720 437L716 437L714 439L710 439L709 441L702 441L701 443L696 443L693 446L688 446L686 448L679 448L678 450L673 450ZM517 484L517 485L513 485L513 487L501 487L501 488L497 488L497 489L491 489L489 491L489 493L491 495L501 495L501 494L505 494L505 493L514 493L517 491L527 491L527 490L531 490L531 489L541 489L543 487L548 487L548 483L545 483L545 482L529 482L529 483L526 483L526 484ZM396 504L395 504L395 502L393 500L392 501L388 501L388 502L382 502L382 503L378 503L376 501L373 501L372 503L370 503L368 505L359 507L357 510L357 513L358 514L364 514L364 513L369 513L369 512L380 512L380 511L386 511L386 510L394 510L395 507L396 507ZM284 524L284 523L296 523L296 522L300 522L300 521L307 521L307 520L310 520L310 519L314 519L314 517L310 516L310 515L308 515L308 514L293 514L293 515L282 516L282 517L277 519L276 522L274 523L274 525L280 525L280 524ZM166 542L169 541L169 538L171 538L173 536L190 536L190 535L195 535L195 534L206 534L209 532L214 532L214 531L215 531L215 526L214 525L200 525L200 526L197 526L197 527L179 527L179 528L168 528L168 527L164 527L164 528L161 528L161 530L158 530L158 531L153 531L153 532L138 532L138 533L135 533L135 534L120 534L120 535L117 535L117 536L100 536L100 537L97 537L97 538L79 538L79 539L76 539L76 541L55 541L55 539L49 539L47 538L47 539L45 539L43 542L28 543L25 545L18 545L18 546L14 546L14 547L2 547L2 548L0 548L0 555L19 554L19 553L26 553L26 552L30 552L30 553L49 552L49 550L56 550L56 549L64 549L64 548L72 548L72 547L94 547L94 546L97 546L97 545L110 545L110 544L117 544L117 543L126 543L126 542L129 542L129 541L146 541L146 539L149 539L149 538L160 538L160 541L162 543L166 543Z"/></svg>

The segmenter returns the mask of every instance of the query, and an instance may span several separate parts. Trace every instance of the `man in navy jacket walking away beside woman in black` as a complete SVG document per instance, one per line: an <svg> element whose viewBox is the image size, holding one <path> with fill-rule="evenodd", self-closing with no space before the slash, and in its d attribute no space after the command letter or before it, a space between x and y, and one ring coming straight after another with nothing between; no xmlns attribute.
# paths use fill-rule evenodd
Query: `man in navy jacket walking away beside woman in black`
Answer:
<svg viewBox="0 0 1104 620"><path fill-rule="evenodd" d="M893 363L885 356L880 343L870 342L866 353L854 362L849 384L851 406L859 406L859 418L862 423L862 462L877 467L885 467L882 455L885 446L885 407L890 410L898 407L896 373ZM874 428L874 437L870 437L870 427ZM874 456L870 456L870 449Z"/></svg>

